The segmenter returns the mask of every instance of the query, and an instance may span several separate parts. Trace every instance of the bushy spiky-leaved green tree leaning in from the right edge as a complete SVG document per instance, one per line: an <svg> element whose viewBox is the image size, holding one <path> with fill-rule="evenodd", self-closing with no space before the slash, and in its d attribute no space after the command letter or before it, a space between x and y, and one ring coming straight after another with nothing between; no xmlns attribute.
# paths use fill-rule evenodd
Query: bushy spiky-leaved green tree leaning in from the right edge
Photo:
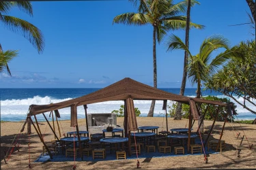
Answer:
<svg viewBox="0 0 256 170"><path fill-rule="evenodd" d="M256 106L255 39L243 41L234 48L240 51L242 56L244 56L244 60L234 58L229 61L223 69L213 74L205 82L204 86L205 88L223 93L223 95L230 97L249 112L256 114L256 111L248 105Z"/></svg>

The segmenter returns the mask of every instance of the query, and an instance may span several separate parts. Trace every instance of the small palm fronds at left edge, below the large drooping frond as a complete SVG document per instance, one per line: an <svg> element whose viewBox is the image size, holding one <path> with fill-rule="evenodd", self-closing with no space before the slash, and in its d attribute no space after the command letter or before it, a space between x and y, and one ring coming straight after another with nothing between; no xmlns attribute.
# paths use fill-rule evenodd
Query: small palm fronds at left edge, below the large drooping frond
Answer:
<svg viewBox="0 0 256 170"><path fill-rule="evenodd" d="M0 72L6 69L8 75L12 76L8 63L18 55L18 50L7 50L3 52L0 44Z"/></svg>

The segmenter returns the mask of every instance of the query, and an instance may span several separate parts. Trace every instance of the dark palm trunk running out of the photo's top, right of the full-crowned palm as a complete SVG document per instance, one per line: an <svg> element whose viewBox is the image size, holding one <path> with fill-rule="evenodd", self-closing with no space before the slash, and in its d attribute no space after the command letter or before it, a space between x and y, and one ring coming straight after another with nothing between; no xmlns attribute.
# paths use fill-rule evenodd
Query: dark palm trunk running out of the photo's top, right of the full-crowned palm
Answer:
<svg viewBox="0 0 256 170"><path fill-rule="evenodd" d="M191 7L191 0L188 0L188 8L186 11L186 35L185 35L185 44L187 47L189 46L190 7ZM182 86L180 87L180 95L182 95L182 96L184 95L185 88L186 88L186 78L188 75L187 66L188 66L188 52L185 50L183 75L182 75ZM177 103L174 119L175 120L182 119L182 103Z"/></svg>

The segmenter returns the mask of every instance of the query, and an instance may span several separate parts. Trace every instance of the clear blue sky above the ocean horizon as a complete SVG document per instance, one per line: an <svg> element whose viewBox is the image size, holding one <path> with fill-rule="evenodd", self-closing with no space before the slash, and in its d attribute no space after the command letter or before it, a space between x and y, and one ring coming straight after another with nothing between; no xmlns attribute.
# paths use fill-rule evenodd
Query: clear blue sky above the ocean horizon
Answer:
<svg viewBox="0 0 256 170"><path fill-rule="evenodd" d="M231 46L253 39L248 25L229 26L248 22L245 0L199 2L191 9L191 20L205 29L190 30L193 54L210 35L223 35ZM115 16L136 12L128 0L33 1L32 5L33 18L18 9L9 15L42 31L44 52L38 54L27 39L1 24L3 50L19 50L19 55L9 64L12 78L0 73L0 88L103 88L127 77L152 86L152 26L112 24ZM184 30L170 31L167 37L171 33L184 40ZM158 88L180 88L184 51L167 52L165 40L156 48ZM192 87L189 82L187 87Z"/></svg>

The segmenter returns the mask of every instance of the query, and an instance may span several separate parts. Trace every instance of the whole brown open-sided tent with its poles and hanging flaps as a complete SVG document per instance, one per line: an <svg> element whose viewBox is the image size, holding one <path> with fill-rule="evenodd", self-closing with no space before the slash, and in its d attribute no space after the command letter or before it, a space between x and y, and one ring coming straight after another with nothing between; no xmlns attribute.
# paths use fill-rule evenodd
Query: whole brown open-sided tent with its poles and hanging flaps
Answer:
<svg viewBox="0 0 256 170"><path fill-rule="evenodd" d="M98 103L103 101L124 101L124 116L125 116L124 131L125 131L126 137L129 137L128 145L130 147L130 131L137 130L137 119L134 112L133 100L163 100L163 101L171 100L171 101L177 101L180 103L188 104L190 105L190 113L191 113L189 117L190 118L189 122L192 122L191 121L192 118L193 120L199 119L199 112L198 112L198 107L196 103L207 103L211 105L218 105L218 107L220 106L227 107L227 104L221 101L209 101L205 99L197 99L197 98L191 98L191 97L186 97L182 95L175 95L171 92L165 92L163 90L159 90L152 86L148 86L146 84L142 84L141 82L132 80L130 78L124 78L123 80L120 80L119 82L115 82L114 84L111 84L110 86L102 88L101 90L92 92L89 95L78 97L76 99L71 99L68 101L60 102L60 103L51 103L48 105L30 105L29 114L27 115L27 120L28 120L28 124L30 123L33 124L33 121L31 121L31 116L36 116L38 114L43 114L45 112L51 112L51 111L55 111L56 113L58 112L58 109L70 107L71 108L70 126L76 126L76 131L79 131L78 124L77 124L77 109L76 109L77 106L80 106L80 105L84 106L85 116L87 117L86 109L88 104ZM218 109L217 109L217 112L218 112ZM33 126L35 128L34 124ZM188 129L190 129L190 126L191 126L191 123ZM88 130L88 126L87 126L87 130ZM38 135L40 137L40 133L38 133ZM190 131L189 131L189 136L190 136ZM44 143L44 141L42 142ZM188 144L189 142L190 142L190 138L188 138ZM44 146L46 145L44 144ZM79 148L81 149L80 137L79 137ZM49 154L51 155L51 152L49 152Z"/></svg>

